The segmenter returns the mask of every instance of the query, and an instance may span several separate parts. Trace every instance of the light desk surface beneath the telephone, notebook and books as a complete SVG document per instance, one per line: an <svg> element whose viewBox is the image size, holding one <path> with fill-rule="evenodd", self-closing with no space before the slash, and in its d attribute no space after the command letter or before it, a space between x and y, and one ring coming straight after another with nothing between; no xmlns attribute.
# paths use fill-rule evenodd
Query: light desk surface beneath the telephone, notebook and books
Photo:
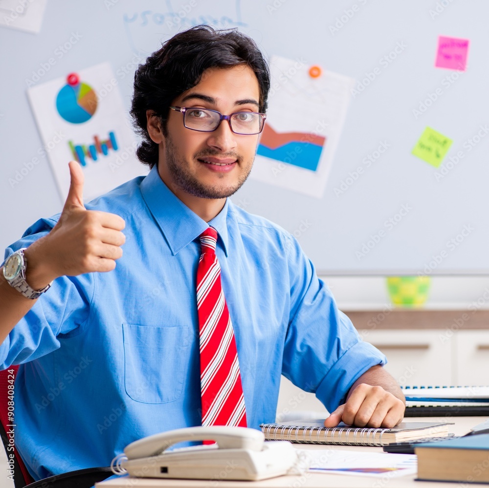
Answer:
<svg viewBox="0 0 489 488"><path fill-rule="evenodd" d="M449 426L449 432L456 435L467 434L471 427L481 424L487 420L486 417L431 417L431 418L409 418L406 422L455 422ZM382 452L381 447L370 446L319 446L310 444L297 444L301 449L332 448L342 450L365 451L371 449ZM378 478L349 476L339 474L305 473L302 476L281 476L263 481L206 481L206 480L170 480L150 478L121 478L102 483L97 483L98 488L453 488L453 483L437 483L427 481L414 481L415 476L406 475L401 478L389 478L381 475Z"/></svg>

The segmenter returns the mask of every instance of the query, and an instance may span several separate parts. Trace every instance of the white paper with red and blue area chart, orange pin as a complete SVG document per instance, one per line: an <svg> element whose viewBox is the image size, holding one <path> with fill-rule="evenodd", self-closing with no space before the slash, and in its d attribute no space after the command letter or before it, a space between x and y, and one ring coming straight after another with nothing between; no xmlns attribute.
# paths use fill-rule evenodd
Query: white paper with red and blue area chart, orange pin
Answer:
<svg viewBox="0 0 489 488"><path fill-rule="evenodd" d="M251 177L321 198L354 80L302 59L270 59L267 120Z"/></svg>

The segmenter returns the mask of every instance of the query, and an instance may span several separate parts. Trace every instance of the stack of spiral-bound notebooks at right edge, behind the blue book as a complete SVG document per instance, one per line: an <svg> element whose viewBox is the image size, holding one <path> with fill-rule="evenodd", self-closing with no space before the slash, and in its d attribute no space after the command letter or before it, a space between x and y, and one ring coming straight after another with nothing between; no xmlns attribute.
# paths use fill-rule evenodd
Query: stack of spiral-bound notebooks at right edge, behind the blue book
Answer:
<svg viewBox="0 0 489 488"><path fill-rule="evenodd" d="M489 415L489 386L404 386L405 417Z"/></svg>

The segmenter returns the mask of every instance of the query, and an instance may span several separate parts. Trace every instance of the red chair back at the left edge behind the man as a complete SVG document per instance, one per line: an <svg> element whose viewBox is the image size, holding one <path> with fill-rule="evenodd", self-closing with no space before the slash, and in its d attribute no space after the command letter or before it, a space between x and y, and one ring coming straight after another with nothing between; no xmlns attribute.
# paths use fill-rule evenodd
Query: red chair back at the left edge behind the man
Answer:
<svg viewBox="0 0 489 488"><path fill-rule="evenodd" d="M7 477L14 480L15 488L23 488L34 480L25 467L15 448L14 428L14 382L19 366L10 366L0 371L0 436L7 453L10 471Z"/></svg>

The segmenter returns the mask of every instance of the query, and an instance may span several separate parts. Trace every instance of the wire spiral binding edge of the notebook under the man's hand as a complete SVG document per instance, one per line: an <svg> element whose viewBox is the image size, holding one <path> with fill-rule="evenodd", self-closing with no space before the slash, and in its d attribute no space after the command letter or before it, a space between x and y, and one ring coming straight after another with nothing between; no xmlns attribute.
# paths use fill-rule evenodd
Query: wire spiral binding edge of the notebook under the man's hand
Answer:
<svg viewBox="0 0 489 488"><path fill-rule="evenodd" d="M389 429L367 427L298 427L295 425L270 424L263 425L262 430L266 439L281 439L298 444L382 446L382 435ZM345 437L342 438L341 434L343 431L345 431ZM337 439L334 438L335 434L337 434Z"/></svg>

